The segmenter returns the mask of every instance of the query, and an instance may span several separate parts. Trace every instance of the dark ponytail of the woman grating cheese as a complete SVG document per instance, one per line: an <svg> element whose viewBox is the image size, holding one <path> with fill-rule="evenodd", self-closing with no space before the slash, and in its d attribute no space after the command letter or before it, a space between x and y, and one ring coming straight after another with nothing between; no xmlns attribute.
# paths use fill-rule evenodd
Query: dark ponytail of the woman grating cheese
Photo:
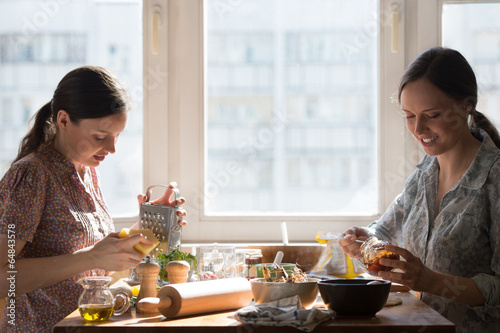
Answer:
<svg viewBox="0 0 500 333"><path fill-rule="evenodd" d="M52 103L45 104L37 113L31 118L30 122L34 121L33 127L29 130L28 134L24 136L19 145L15 163L21 158L34 153L42 144L50 143L55 135L54 126L52 122Z"/></svg>

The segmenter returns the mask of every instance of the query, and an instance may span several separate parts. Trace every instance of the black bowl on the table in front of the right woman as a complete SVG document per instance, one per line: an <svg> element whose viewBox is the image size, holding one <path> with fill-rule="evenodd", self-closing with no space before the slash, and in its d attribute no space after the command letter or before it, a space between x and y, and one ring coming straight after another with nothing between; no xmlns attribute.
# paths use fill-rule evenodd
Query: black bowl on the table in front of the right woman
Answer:
<svg viewBox="0 0 500 333"><path fill-rule="evenodd" d="M380 284L367 285L370 281ZM374 316L382 310L391 282L368 279L339 279L318 282L319 292L325 305L340 316Z"/></svg>

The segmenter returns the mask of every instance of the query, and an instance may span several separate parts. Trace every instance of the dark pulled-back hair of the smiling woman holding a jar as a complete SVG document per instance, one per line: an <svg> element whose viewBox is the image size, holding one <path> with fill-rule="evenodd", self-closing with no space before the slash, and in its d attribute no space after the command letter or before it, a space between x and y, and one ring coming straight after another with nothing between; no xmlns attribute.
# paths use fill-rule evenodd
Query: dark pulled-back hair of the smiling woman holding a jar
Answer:
<svg viewBox="0 0 500 333"><path fill-rule="evenodd" d="M476 75L460 52L444 47L434 47L420 54L401 78L398 100L401 101L401 92L407 83L422 78L427 79L451 98L472 105L469 113L469 128L484 130L500 148L498 130L484 114L476 110Z"/></svg>

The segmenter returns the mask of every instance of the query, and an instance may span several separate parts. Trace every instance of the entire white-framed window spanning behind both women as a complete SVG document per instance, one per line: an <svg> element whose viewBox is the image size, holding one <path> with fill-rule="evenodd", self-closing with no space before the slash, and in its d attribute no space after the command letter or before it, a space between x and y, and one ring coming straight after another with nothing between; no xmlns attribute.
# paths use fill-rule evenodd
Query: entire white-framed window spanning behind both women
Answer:
<svg viewBox="0 0 500 333"><path fill-rule="evenodd" d="M138 192L175 180L187 199L185 243L277 242L282 221L292 242L366 225L422 157L391 101L422 51L461 51L478 74L478 109L500 122L500 40L485 19L498 16L496 2L0 2L0 108L19 111L0 110L2 168L27 110L53 91L49 79L89 62L117 73L136 101L130 138L100 168L115 179L104 184L115 215L136 215Z"/></svg>

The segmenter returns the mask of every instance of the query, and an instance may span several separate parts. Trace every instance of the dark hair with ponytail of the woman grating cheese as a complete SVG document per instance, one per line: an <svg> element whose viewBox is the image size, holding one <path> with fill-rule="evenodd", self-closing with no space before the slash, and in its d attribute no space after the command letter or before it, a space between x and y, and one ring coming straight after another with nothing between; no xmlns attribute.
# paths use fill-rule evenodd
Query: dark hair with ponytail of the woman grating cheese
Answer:
<svg viewBox="0 0 500 333"><path fill-rule="evenodd" d="M68 113L71 122L111 116L130 109L130 98L118 79L96 66L78 67L66 74L54 91L52 100L38 110L33 126L22 139L13 163L50 144L56 135L57 114Z"/></svg>

